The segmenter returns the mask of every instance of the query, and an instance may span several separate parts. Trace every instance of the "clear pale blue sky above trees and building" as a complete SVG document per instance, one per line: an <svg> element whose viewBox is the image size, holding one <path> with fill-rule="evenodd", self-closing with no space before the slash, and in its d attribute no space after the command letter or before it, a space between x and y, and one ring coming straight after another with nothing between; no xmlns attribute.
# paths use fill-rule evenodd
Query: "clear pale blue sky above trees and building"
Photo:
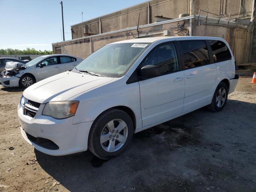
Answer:
<svg viewBox="0 0 256 192"><path fill-rule="evenodd" d="M0 49L52 50L62 41L61 0L0 0ZM62 0L65 40L70 26L145 0ZM60 31L61 30L61 31Z"/></svg>

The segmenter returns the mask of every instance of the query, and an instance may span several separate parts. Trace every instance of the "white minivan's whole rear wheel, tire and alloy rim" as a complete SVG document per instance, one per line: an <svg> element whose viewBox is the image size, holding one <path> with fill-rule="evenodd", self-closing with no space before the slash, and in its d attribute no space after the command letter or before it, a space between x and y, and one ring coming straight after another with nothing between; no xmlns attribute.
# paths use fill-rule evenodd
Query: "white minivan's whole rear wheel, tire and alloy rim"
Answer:
<svg viewBox="0 0 256 192"><path fill-rule="evenodd" d="M212 103L207 107L212 112L219 112L224 108L224 106L227 103L227 100L228 100L228 87L225 83L220 82L220 84L218 84L214 92Z"/></svg>

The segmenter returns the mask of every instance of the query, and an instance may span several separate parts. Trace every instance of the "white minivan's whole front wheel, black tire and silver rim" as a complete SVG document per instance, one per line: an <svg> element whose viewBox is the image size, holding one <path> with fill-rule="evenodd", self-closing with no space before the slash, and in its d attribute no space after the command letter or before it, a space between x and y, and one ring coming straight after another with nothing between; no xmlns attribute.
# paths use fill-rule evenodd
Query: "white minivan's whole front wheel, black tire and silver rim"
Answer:
<svg viewBox="0 0 256 192"><path fill-rule="evenodd" d="M131 117L122 110L112 108L92 124L88 148L98 158L114 158L130 144L133 130Z"/></svg>

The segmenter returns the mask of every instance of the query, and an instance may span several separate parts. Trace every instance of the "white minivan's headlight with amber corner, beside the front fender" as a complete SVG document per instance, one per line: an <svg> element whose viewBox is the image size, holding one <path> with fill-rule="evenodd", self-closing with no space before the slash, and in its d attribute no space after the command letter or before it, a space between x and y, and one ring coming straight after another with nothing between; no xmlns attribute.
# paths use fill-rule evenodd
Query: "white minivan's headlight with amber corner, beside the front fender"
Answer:
<svg viewBox="0 0 256 192"><path fill-rule="evenodd" d="M78 101L57 101L45 104L42 115L52 116L56 119L64 119L76 114Z"/></svg>

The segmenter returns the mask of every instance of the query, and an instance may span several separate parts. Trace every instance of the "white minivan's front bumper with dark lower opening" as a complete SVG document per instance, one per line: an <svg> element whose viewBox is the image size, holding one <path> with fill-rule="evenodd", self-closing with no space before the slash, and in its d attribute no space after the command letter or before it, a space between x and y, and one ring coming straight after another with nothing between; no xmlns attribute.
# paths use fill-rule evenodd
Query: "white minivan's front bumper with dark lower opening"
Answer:
<svg viewBox="0 0 256 192"><path fill-rule="evenodd" d="M62 120L54 119L50 116L43 116L44 104L38 109L34 118L23 114L22 104L18 106L18 118L20 130L23 138L38 151L53 156L62 156L86 151L88 146L88 135L93 122L82 122L72 124L73 118ZM50 140L58 148L49 149L32 138ZM37 140L38 141L38 140Z"/></svg>

